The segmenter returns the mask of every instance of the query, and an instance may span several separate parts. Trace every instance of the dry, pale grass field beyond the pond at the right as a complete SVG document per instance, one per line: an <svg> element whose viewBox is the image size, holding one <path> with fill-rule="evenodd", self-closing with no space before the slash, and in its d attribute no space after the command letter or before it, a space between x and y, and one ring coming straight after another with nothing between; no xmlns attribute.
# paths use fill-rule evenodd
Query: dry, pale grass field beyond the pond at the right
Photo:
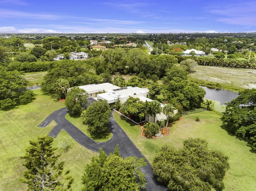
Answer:
<svg viewBox="0 0 256 191"><path fill-rule="evenodd" d="M198 66L191 73L190 79L200 85L239 92L243 89L256 88L256 71L224 67Z"/></svg>

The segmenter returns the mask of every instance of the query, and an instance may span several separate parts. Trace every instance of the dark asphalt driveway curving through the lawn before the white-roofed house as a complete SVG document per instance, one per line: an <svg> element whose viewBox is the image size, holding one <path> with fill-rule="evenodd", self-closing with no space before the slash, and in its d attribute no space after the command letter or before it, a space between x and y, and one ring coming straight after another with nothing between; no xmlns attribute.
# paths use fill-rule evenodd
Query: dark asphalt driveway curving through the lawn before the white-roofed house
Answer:
<svg viewBox="0 0 256 191"><path fill-rule="evenodd" d="M114 111L112 111L113 114ZM68 110L66 108L62 108L53 112L50 116L48 116L44 122L42 122L39 127L46 127L52 120L54 120L57 125L51 130L49 136L57 137L60 131L65 130L76 142L88 148L94 152L98 152L100 148L106 152L106 154L110 154L110 152L114 152L116 145L119 145L119 151L122 157L135 156L137 158L144 158L142 153L136 148L133 142L128 138L122 128L116 123L112 114L110 118L109 129L112 133L112 138L107 142L95 142L86 136L82 131L80 131L76 126L66 120L65 116L68 114ZM148 166L142 168L142 172L146 174L146 191L167 191L167 187L159 184L152 171L152 166L145 159Z"/></svg>

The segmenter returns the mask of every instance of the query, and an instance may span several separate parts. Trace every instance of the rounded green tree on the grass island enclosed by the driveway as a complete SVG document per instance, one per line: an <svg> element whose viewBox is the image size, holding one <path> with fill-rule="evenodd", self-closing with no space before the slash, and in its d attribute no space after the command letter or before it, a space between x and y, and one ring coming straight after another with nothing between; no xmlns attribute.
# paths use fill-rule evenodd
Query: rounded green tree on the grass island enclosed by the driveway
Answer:
<svg viewBox="0 0 256 191"><path fill-rule="evenodd" d="M81 114L81 118L88 125L88 132L92 135L108 130L111 109L106 100L92 102Z"/></svg>

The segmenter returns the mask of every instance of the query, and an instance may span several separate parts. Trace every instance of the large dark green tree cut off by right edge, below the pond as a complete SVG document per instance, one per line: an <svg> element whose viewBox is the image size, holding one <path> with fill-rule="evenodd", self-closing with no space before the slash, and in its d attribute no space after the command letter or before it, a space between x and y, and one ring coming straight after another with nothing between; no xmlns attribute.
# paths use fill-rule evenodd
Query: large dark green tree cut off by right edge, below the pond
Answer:
<svg viewBox="0 0 256 191"><path fill-rule="evenodd" d="M256 89L246 89L227 103L222 122L227 130L247 140L256 152Z"/></svg>

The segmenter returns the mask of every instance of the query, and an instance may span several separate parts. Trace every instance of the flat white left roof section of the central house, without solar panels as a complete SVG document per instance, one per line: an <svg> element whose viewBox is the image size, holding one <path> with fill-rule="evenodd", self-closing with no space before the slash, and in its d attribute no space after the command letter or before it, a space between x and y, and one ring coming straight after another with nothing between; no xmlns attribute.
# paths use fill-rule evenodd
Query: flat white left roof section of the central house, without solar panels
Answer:
<svg viewBox="0 0 256 191"><path fill-rule="evenodd" d="M79 88L84 89L88 94L97 93L99 91L112 91L120 87L113 85L111 83L102 83L102 84L89 84L84 86L79 86Z"/></svg>

